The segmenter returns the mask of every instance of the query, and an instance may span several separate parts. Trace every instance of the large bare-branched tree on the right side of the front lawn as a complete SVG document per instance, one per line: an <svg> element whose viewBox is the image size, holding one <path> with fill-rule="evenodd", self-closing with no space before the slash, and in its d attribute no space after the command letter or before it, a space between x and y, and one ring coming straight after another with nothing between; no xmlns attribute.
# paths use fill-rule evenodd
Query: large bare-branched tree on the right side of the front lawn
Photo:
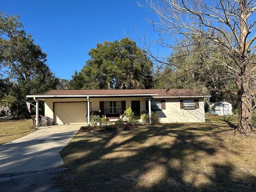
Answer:
<svg viewBox="0 0 256 192"><path fill-rule="evenodd" d="M193 63L190 71L215 78L218 82L215 91L233 94L239 103L236 130L242 134L252 133L252 96L256 94L256 66L252 59L256 48L256 1L146 0L146 3L159 16L159 20L151 21L160 35L157 43L173 49L182 47L186 50L183 56L193 54L201 58L202 62ZM183 44L184 38L189 41ZM195 44L198 50L191 49ZM209 45L208 51L205 44ZM176 66L169 63L172 55L159 58L150 50L148 47L148 53L155 60ZM232 82L235 89L218 86L224 80Z"/></svg>

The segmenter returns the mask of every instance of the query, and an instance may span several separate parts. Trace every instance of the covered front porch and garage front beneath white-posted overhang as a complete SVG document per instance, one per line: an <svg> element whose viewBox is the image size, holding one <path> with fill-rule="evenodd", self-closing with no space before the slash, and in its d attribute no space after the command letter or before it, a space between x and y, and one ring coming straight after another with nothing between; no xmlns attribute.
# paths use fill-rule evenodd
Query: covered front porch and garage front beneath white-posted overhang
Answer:
<svg viewBox="0 0 256 192"><path fill-rule="evenodd" d="M29 97L29 96L27 96ZM126 96L34 96L36 101L36 117L38 116L38 101L44 101L44 116L50 119L50 125L87 123L91 124L92 114L100 117L110 117L114 114L124 114L129 107L134 115L140 117L140 113L146 110L148 102L148 113L151 122L151 95L126 95ZM111 119L111 118L110 118ZM36 118L36 127L39 126Z"/></svg>

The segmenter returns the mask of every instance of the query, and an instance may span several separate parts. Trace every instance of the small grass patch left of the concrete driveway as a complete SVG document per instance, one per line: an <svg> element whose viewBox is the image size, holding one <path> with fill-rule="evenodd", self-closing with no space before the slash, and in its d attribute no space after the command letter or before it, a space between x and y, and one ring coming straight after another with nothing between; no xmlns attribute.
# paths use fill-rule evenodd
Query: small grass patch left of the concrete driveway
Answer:
<svg viewBox="0 0 256 192"><path fill-rule="evenodd" d="M34 132L31 119L5 120L0 119L0 145Z"/></svg>

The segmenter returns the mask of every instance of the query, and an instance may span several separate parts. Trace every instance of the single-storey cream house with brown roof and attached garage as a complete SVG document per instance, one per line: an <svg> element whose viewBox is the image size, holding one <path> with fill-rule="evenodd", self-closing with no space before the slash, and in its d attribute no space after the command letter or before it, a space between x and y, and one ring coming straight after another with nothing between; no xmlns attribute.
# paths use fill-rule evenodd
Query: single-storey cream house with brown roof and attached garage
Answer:
<svg viewBox="0 0 256 192"><path fill-rule="evenodd" d="M138 117L145 110L150 116L151 111L157 111L162 123L205 122L204 98L209 97L190 89L50 90L27 96L36 101L36 116L38 100L45 102L44 115L51 124L89 124L91 111L100 115L123 114L129 107Z"/></svg>

